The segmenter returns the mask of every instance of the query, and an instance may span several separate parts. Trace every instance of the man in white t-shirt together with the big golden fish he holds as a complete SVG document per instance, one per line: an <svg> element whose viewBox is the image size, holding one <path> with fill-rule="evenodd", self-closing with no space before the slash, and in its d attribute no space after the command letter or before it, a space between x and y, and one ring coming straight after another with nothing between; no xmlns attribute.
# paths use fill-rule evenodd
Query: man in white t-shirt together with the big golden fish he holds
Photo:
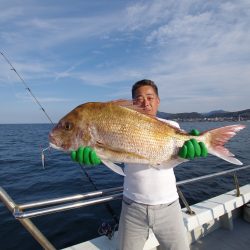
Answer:
<svg viewBox="0 0 250 250"><path fill-rule="evenodd" d="M244 125L188 134L177 122L156 118L160 98L153 81L136 82L132 97L133 103L78 106L52 130L50 145L81 164L103 163L125 176L119 250L142 250L150 228L161 249L189 249L173 167L207 153L241 165L223 146ZM115 164L122 162L124 173Z"/></svg>

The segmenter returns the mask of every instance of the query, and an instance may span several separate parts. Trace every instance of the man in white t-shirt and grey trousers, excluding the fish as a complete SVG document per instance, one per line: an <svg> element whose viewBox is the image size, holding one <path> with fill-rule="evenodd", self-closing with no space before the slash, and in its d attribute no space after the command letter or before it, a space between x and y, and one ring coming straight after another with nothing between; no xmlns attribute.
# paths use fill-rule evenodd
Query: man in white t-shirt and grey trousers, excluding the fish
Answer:
<svg viewBox="0 0 250 250"><path fill-rule="evenodd" d="M140 106L146 114L156 117L160 98L153 81L136 82L132 87L132 98L134 104ZM177 122L160 120L179 128ZM188 150L194 149L186 148L184 151ZM93 151L81 152L85 157L86 154L89 155L88 162L98 162L99 158ZM180 152L180 156L185 158L183 150ZM74 152L72 158L77 159L77 152ZM118 230L119 249L142 250L150 228L161 249L189 249L173 168L155 169L145 164L137 164L136 167L134 164L125 164L124 172L126 176Z"/></svg>

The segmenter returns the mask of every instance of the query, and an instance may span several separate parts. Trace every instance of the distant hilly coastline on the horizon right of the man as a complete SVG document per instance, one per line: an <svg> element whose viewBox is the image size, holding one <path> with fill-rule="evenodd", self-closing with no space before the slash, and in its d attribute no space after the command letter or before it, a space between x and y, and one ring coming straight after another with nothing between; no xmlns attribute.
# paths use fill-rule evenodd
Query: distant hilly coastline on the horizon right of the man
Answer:
<svg viewBox="0 0 250 250"><path fill-rule="evenodd" d="M214 110L208 113L165 113L158 112L157 116L169 120L178 120L178 121L235 121L235 120L250 120L250 109L240 110L236 112L229 112L224 110Z"/></svg>

